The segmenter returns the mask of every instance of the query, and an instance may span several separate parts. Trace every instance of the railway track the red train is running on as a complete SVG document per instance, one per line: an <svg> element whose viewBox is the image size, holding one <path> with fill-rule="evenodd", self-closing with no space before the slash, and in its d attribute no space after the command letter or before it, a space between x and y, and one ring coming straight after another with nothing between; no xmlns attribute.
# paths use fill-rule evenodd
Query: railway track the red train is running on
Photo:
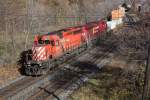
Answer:
<svg viewBox="0 0 150 100"><path fill-rule="evenodd" d="M38 91L38 87L46 86L49 84L50 80L58 74L61 73L61 67L65 66L67 63L74 61L74 59L78 58L86 54L89 50L82 52L80 55L75 56L67 60L65 63L58 66L56 69L50 71L47 75L40 76L40 77L25 77L20 81L17 81L10 86L7 86L4 89L0 90L0 99L7 99L7 100L25 100L29 96L31 96L34 92ZM58 73L55 73L55 72Z"/></svg>

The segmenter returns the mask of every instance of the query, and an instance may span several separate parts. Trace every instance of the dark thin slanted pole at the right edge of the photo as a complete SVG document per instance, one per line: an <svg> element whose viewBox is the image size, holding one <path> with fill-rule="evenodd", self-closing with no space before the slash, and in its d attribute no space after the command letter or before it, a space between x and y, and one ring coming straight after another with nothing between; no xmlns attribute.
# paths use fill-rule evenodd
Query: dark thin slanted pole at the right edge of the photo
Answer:
<svg viewBox="0 0 150 100"><path fill-rule="evenodd" d="M148 100L149 97L149 79L150 79L150 42L148 46L148 57L146 61L146 71L145 71L145 78L144 78L144 86L143 86L143 94L142 100Z"/></svg>

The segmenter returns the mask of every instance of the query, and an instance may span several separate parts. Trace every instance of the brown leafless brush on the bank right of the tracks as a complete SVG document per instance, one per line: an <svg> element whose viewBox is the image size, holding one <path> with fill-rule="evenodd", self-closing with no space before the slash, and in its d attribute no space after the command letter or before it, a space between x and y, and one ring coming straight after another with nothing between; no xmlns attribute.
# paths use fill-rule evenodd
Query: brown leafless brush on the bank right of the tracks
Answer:
<svg viewBox="0 0 150 100"><path fill-rule="evenodd" d="M147 57L148 43L150 39L150 27L143 22L126 27L113 34L112 41L117 45L117 51L122 55L130 56L130 59L144 60Z"/></svg>

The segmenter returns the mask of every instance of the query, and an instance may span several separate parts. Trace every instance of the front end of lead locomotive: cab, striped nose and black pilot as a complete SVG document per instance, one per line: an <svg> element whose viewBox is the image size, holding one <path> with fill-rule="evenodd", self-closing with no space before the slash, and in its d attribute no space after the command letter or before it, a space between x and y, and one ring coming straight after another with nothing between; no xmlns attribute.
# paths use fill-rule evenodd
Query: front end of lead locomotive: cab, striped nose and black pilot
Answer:
<svg viewBox="0 0 150 100"><path fill-rule="evenodd" d="M42 75L48 71L48 60L50 59L50 50L54 46L54 40L49 40L44 36L35 36L32 54L26 57L25 73L27 75ZM49 49L49 50L48 50Z"/></svg>

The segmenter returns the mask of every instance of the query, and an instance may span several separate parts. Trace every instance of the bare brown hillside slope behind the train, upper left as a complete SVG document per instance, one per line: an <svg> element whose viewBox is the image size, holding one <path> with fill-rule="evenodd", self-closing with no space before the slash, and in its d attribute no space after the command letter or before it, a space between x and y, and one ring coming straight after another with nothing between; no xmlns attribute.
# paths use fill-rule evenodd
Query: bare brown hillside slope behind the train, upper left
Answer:
<svg viewBox="0 0 150 100"><path fill-rule="evenodd" d="M16 62L46 33L103 18L123 0L0 0L0 65ZM30 34L29 34L30 33Z"/></svg>

